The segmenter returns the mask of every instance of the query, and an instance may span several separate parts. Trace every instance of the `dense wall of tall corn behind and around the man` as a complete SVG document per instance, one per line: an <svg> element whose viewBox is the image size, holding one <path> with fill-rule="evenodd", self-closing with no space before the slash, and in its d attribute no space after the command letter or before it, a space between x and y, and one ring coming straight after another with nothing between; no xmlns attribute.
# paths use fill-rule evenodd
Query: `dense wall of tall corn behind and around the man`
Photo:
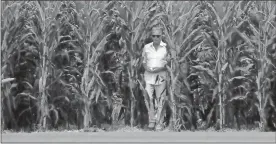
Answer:
<svg viewBox="0 0 276 144"><path fill-rule="evenodd" d="M1 1L2 130L148 124L142 49L164 28L174 131L276 130L274 1Z"/></svg>

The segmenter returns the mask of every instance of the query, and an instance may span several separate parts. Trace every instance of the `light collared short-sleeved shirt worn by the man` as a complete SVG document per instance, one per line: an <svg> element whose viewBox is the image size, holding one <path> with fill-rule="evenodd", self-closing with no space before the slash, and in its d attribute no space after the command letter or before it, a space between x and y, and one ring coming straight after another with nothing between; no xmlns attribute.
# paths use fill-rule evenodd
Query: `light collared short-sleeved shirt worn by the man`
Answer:
<svg viewBox="0 0 276 144"><path fill-rule="evenodd" d="M145 45L142 53L143 63L146 63L146 65L150 68L165 67L165 65L167 64L166 59L168 57L166 46L167 44L162 41L158 49L155 49L155 47L153 46L153 42ZM151 73L145 71L144 78L146 83L148 84L160 85L166 81L167 72L161 71L158 73Z"/></svg>

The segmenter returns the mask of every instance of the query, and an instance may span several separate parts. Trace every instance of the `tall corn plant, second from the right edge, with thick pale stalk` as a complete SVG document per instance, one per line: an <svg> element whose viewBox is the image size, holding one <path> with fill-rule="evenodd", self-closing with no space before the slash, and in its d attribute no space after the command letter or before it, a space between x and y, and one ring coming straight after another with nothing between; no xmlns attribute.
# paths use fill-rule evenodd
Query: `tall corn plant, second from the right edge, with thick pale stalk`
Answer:
<svg viewBox="0 0 276 144"><path fill-rule="evenodd" d="M200 70L205 71L209 77L214 81L213 99L218 98L219 109L219 128L223 128L225 124L225 103L227 95L227 85L231 83L233 79L246 80L245 77L234 76L235 67L233 67L233 60L237 57L229 57L227 55L228 51L233 47L238 48L237 39L233 39L233 34L235 34L235 29L243 23L243 21L238 21L237 19L230 19L234 15L241 15L240 11L236 12L234 9L238 9L240 4L236 2L214 2L214 3L203 3L203 6L207 9L207 15L211 17L210 27L212 31L203 32L205 36L205 47L211 48L213 51L217 52L215 56L215 68L206 69L204 66L197 67ZM237 27L232 28L239 23ZM213 37L213 38L212 38ZM206 45L207 44L207 45ZM235 48L234 48L235 49ZM237 53L238 54L238 53ZM232 62L231 62L232 61ZM228 68L229 67L229 68ZM230 80L228 80L230 79Z"/></svg>

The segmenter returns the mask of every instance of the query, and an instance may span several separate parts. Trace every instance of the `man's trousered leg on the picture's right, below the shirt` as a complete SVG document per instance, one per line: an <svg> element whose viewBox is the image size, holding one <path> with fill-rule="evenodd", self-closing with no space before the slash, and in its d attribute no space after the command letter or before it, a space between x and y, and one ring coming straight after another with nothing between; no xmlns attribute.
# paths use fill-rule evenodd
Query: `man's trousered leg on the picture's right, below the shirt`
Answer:
<svg viewBox="0 0 276 144"><path fill-rule="evenodd" d="M155 86L155 93L157 98L157 114L156 114L156 123L157 128L160 129L161 124L163 123L164 113L166 109L164 109L165 97L166 97L166 82L163 82L161 85Z"/></svg>

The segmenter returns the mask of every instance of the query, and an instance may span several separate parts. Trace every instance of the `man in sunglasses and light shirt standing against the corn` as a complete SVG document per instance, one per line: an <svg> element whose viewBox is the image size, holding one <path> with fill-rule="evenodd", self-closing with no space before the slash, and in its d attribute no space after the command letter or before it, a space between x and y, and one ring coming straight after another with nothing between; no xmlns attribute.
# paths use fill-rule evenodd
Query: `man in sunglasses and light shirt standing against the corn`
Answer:
<svg viewBox="0 0 276 144"><path fill-rule="evenodd" d="M149 95L149 128L162 129L161 113L164 112L164 98L166 96L166 78L168 63L167 44L162 42L162 29L152 28L151 36L153 42L146 44L143 49L143 66L145 68L144 78L146 91ZM155 91L156 99L153 97Z"/></svg>

